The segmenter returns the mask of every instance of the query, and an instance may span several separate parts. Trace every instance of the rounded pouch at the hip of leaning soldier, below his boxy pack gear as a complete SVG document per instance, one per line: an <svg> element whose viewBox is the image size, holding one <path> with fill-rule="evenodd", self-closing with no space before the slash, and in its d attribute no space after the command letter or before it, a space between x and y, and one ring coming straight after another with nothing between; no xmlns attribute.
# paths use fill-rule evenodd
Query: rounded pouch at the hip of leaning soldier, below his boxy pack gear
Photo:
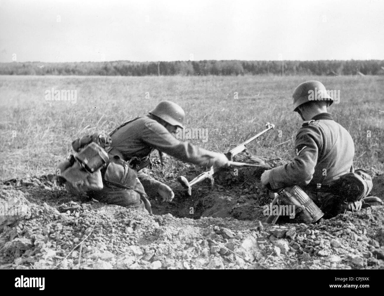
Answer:
<svg viewBox="0 0 384 296"><path fill-rule="evenodd" d="M104 180L119 187L135 190L137 173L126 161L114 156L105 170Z"/></svg>

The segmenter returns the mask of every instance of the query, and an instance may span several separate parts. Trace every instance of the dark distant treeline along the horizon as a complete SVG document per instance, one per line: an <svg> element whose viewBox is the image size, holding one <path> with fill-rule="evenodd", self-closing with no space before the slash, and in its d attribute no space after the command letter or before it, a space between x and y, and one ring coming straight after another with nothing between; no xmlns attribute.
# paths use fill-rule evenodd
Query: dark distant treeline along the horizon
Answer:
<svg viewBox="0 0 384 296"><path fill-rule="evenodd" d="M384 61L10 62L0 75L364 75L384 74Z"/></svg>

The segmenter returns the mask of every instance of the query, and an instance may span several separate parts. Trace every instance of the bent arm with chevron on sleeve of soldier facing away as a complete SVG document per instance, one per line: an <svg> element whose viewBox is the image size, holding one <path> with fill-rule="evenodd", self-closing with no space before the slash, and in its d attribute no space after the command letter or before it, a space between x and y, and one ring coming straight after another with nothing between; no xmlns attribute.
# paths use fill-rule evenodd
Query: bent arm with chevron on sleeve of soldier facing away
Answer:
<svg viewBox="0 0 384 296"><path fill-rule="evenodd" d="M295 184L310 183L317 163L319 150L323 147L323 137L316 125L308 125L299 130L295 140L295 158L291 163L278 166L270 171L269 183L272 189Z"/></svg>

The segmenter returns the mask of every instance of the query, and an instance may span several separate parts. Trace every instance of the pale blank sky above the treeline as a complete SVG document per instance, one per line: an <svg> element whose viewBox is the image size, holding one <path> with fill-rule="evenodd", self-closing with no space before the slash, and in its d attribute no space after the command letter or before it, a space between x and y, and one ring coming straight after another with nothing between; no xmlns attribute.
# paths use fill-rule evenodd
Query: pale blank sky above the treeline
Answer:
<svg viewBox="0 0 384 296"><path fill-rule="evenodd" d="M384 1L0 0L0 61L384 59Z"/></svg>

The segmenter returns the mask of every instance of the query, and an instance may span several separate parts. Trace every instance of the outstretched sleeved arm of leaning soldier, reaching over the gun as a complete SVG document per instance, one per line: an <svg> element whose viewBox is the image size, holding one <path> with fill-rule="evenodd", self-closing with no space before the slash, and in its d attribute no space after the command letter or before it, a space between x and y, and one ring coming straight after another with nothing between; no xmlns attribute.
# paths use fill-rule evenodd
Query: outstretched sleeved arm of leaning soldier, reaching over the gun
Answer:
<svg viewBox="0 0 384 296"><path fill-rule="evenodd" d="M151 121L145 124L142 140L155 149L185 162L201 166L220 166L218 163L223 161L223 155L220 153L199 148L186 141L182 142L157 122Z"/></svg>

